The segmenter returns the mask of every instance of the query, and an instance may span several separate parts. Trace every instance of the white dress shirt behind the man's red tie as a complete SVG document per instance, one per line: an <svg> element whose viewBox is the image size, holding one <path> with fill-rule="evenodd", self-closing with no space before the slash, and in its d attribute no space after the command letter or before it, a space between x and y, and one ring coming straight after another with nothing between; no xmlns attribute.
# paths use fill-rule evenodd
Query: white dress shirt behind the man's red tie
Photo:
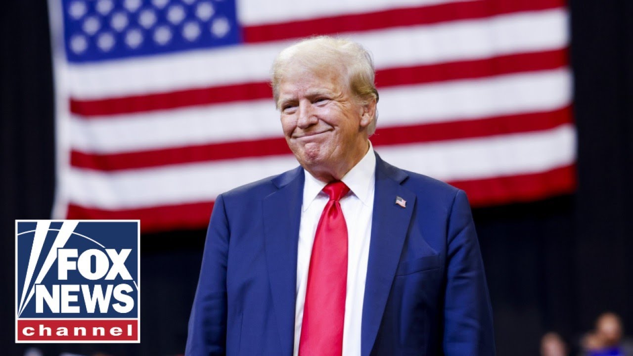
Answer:
<svg viewBox="0 0 633 356"><path fill-rule="evenodd" d="M349 188L349 193L341 198L341 208L348 227L348 285L345 298L345 321L343 327L343 356L360 355L361 322L363 316L363 296L369 242L372 234L373 193L376 170L376 156L372 144L354 168L341 181ZM299 338L303 322L303 306L308 285L308 269L314 242L316 226L329 200L322 192L324 182L305 173L303 205L299 226L299 247L297 254L297 301L294 315L294 356L299 354Z"/></svg>

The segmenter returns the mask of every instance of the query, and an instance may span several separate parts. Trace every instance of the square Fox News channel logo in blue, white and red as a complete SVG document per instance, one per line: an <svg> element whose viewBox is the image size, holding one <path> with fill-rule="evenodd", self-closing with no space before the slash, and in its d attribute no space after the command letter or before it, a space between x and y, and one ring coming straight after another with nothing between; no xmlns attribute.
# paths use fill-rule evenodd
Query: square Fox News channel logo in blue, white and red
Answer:
<svg viewBox="0 0 633 356"><path fill-rule="evenodd" d="M140 342L139 220L16 220L17 343Z"/></svg>

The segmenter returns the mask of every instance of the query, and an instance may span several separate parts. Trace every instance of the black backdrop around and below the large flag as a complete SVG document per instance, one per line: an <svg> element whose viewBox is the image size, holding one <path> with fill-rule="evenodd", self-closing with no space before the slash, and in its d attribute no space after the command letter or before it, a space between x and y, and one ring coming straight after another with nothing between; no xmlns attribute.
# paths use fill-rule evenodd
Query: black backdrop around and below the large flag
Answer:
<svg viewBox="0 0 633 356"><path fill-rule="evenodd" d="M578 181L575 194L473 213L491 290L498 354L570 343L613 310L633 334L633 1L572 0ZM0 354L14 338L14 219L47 219L54 193L53 84L46 1L0 11ZM204 231L142 236L141 345L39 345L113 355L184 351Z"/></svg>

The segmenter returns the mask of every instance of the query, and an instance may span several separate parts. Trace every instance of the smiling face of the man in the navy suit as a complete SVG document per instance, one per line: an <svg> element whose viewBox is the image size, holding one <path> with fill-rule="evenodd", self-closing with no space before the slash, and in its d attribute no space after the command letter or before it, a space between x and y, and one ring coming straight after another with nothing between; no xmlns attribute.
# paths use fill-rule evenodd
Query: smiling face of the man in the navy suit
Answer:
<svg viewBox="0 0 633 356"><path fill-rule="evenodd" d="M334 66L286 73L279 84L279 109L288 146L318 179L341 179L367 152L373 111L354 100Z"/></svg>

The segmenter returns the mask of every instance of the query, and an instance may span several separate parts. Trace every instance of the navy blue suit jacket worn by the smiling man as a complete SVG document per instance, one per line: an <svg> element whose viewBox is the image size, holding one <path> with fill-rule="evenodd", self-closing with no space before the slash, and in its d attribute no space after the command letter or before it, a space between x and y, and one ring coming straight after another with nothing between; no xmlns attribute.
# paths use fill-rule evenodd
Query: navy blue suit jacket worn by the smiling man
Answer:
<svg viewBox="0 0 633 356"><path fill-rule="evenodd" d="M303 183L298 167L218 196L187 356L292 355ZM361 355L494 355L465 193L377 155L373 204Z"/></svg>

